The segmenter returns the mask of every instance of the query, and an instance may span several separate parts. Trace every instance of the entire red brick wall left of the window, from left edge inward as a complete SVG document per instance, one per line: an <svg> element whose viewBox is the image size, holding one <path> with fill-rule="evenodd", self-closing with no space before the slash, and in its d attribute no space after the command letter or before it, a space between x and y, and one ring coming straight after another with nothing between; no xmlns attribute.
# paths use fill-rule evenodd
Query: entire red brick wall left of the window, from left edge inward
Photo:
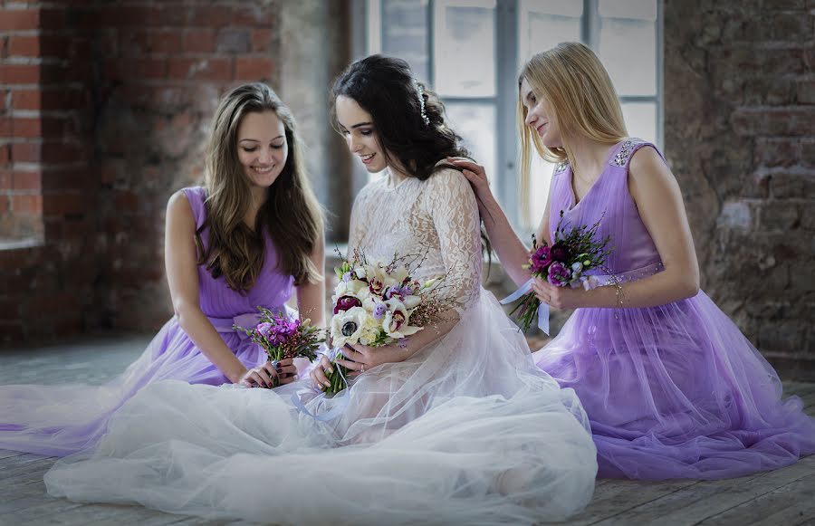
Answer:
<svg viewBox="0 0 815 526"><path fill-rule="evenodd" d="M155 330L167 199L217 100L277 79L276 2L0 2L0 342Z"/></svg>

